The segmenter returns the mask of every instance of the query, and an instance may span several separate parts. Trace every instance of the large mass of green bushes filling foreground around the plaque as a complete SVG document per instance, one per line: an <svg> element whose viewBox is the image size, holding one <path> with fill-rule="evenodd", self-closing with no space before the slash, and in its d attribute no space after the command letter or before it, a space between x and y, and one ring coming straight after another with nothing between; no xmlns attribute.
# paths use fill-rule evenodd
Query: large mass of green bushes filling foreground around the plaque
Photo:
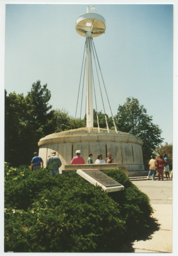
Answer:
<svg viewBox="0 0 178 256"><path fill-rule="evenodd" d="M125 186L105 193L75 171L5 166L5 251L121 252L149 228L149 198L122 170L104 171Z"/></svg>

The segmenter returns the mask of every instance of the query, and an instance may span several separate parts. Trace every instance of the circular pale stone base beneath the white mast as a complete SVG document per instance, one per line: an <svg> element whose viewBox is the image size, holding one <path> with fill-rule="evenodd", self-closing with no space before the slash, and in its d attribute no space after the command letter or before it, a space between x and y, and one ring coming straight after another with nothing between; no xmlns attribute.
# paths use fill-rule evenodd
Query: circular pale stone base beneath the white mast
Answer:
<svg viewBox="0 0 178 256"><path fill-rule="evenodd" d="M97 155L102 154L103 159L106 153L111 152L114 163L125 165L128 175L143 176L148 171L144 171L142 146L143 142L139 137L130 133L116 133L113 130L92 127L78 128L69 131L53 133L39 140L39 156L43 159L44 165L52 150L56 150L62 165L69 165L76 150L81 150L81 156L87 163L88 155L93 154L93 163Z"/></svg>

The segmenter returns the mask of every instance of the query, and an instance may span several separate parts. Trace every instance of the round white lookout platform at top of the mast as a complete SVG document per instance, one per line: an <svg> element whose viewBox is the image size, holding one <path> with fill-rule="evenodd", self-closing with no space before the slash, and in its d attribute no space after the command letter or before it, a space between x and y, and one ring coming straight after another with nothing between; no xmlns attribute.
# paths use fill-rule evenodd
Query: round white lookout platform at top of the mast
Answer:
<svg viewBox="0 0 178 256"><path fill-rule="evenodd" d="M77 18L76 31L79 35L86 37L90 32L92 37L97 37L105 32L105 19L97 13L85 13Z"/></svg>

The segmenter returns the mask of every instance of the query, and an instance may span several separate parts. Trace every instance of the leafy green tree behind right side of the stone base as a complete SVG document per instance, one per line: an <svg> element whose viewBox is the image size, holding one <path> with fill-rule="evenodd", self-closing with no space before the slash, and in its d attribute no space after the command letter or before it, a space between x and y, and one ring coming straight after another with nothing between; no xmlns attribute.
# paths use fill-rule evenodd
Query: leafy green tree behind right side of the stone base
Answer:
<svg viewBox="0 0 178 256"><path fill-rule="evenodd" d="M129 97L124 105L118 106L114 118L119 131L132 133L143 140L143 158L146 164L155 148L163 142L161 129L152 123L153 117L148 116L147 110L136 98Z"/></svg>

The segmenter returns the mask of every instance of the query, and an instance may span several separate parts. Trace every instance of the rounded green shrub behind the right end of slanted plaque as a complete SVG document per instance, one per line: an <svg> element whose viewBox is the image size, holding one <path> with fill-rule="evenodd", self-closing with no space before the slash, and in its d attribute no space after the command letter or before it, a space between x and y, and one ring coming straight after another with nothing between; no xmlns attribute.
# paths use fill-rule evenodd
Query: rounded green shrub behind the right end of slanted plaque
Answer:
<svg viewBox="0 0 178 256"><path fill-rule="evenodd" d="M104 173L125 187L119 192L119 197L117 193L109 193L109 196L119 204L126 223L127 238L132 238L133 235L136 237L140 232L148 230L148 220L153 209L147 194L141 192L121 170L106 170Z"/></svg>

